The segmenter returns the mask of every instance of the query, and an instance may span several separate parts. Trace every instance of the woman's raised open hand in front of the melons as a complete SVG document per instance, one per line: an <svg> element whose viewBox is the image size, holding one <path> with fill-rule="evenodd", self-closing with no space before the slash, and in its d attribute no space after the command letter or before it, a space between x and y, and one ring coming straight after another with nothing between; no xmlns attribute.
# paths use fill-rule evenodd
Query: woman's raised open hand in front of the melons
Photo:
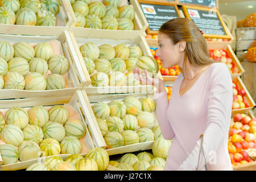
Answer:
<svg viewBox="0 0 256 182"><path fill-rule="evenodd" d="M163 92L165 90L164 88L164 82L163 80L160 80L159 78L152 78L149 76L148 71L145 69L144 73L146 77L142 76L141 69L133 68L133 76L136 80L139 80L142 85L152 85L156 87L156 93Z"/></svg>

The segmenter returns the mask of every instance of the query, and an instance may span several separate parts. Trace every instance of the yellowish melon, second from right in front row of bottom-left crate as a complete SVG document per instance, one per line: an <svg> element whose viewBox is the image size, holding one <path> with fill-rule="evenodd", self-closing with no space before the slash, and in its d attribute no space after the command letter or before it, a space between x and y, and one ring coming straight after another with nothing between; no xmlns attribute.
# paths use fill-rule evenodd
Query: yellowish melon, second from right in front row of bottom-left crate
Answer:
<svg viewBox="0 0 256 182"><path fill-rule="evenodd" d="M60 151L61 151L60 143L56 139L53 139L53 138L44 139L40 143L40 148L42 151L46 152L46 156L59 155ZM48 168L49 168L49 166L48 166Z"/></svg>

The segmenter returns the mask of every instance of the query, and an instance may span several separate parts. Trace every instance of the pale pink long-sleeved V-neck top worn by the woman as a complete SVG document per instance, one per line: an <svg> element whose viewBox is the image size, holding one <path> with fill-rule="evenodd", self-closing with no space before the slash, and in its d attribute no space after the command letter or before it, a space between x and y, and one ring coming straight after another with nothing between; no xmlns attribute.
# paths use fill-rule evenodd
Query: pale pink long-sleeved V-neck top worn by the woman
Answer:
<svg viewBox="0 0 256 182"><path fill-rule="evenodd" d="M165 139L172 139L164 170L205 170L200 135L208 170L232 170L228 134L232 112L232 78L225 64L211 64L192 87L180 96L180 74L167 93L155 93L156 114ZM199 160L199 166L197 163Z"/></svg>

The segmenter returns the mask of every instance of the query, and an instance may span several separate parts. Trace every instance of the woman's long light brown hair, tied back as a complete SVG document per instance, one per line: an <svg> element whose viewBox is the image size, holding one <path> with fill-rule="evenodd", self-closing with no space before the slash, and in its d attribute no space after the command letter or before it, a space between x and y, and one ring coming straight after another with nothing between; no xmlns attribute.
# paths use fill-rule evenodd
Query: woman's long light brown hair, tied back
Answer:
<svg viewBox="0 0 256 182"><path fill-rule="evenodd" d="M196 26L196 23L192 20L187 18L171 19L162 24L159 28L159 32L167 35L174 44L177 44L180 41L186 42L183 68L181 69L183 76L185 70L184 67L186 68L187 65L187 57L189 62L195 67L204 67L215 62L210 59L208 46L204 36Z"/></svg>

